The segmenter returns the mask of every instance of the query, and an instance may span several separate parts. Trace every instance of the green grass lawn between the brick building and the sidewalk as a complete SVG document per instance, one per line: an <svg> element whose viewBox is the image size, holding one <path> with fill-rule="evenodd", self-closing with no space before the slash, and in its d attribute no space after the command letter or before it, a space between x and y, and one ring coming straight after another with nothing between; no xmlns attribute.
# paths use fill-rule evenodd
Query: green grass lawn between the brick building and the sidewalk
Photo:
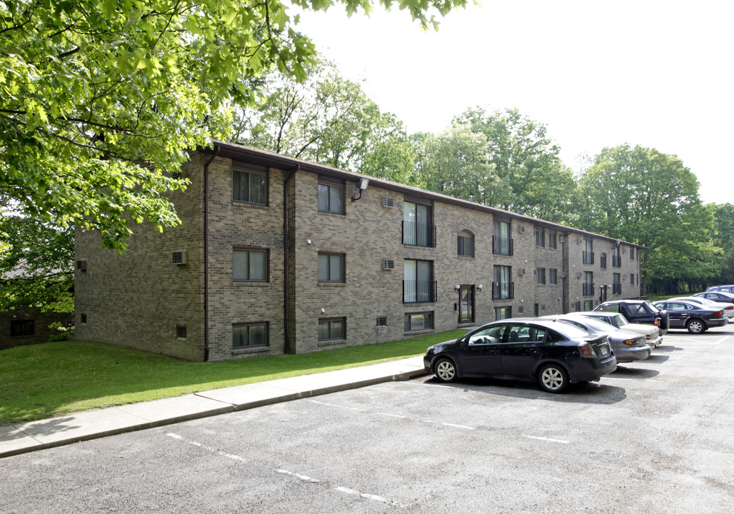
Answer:
<svg viewBox="0 0 734 514"><path fill-rule="evenodd" d="M407 358L464 333L210 363L85 341L15 347L0 351L0 424Z"/></svg>

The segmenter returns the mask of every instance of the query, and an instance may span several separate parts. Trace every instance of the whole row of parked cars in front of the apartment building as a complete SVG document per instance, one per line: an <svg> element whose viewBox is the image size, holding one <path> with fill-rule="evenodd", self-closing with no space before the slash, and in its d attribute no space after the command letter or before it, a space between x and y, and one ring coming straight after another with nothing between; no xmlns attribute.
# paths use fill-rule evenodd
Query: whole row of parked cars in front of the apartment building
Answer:
<svg viewBox="0 0 734 514"><path fill-rule="evenodd" d="M560 393L572 383L600 380L617 363L649 357L669 328L702 333L726 325L732 316L734 302L722 305L700 297L615 300L594 311L489 323L429 347L424 366L441 382L534 380L543 391Z"/></svg>

